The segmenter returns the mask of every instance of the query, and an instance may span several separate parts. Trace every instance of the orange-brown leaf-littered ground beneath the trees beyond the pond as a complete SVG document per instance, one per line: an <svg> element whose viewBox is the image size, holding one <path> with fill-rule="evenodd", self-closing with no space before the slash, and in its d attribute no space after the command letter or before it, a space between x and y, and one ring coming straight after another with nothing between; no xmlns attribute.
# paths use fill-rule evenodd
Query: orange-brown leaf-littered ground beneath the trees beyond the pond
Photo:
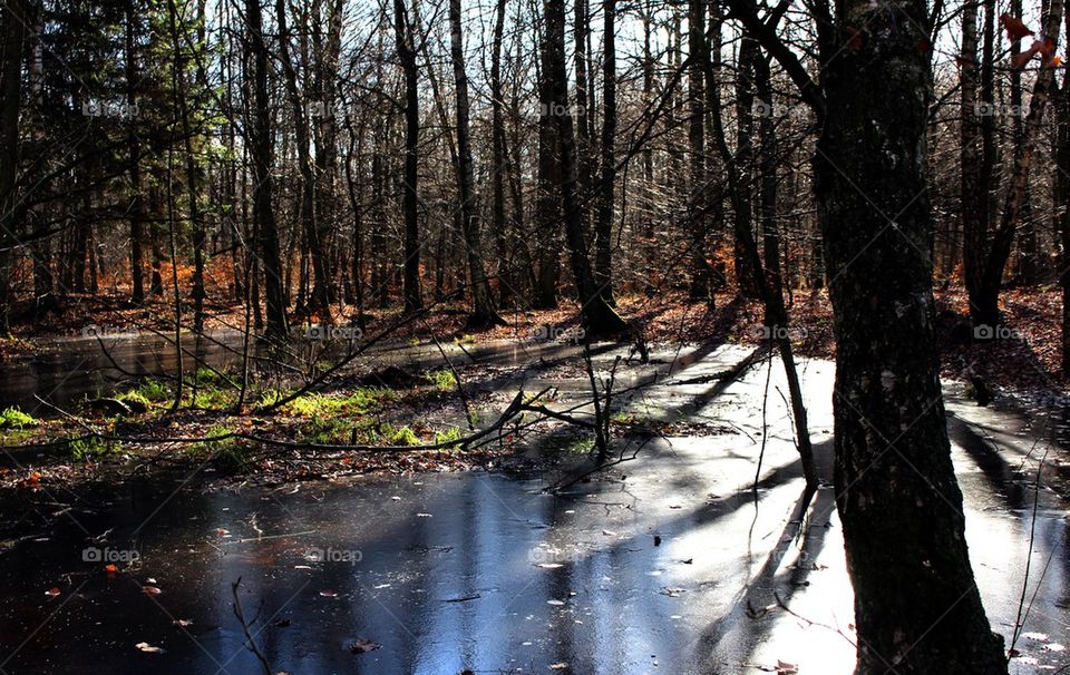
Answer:
<svg viewBox="0 0 1070 675"><path fill-rule="evenodd" d="M795 291L789 297L791 338L802 356L834 359L833 314L826 291ZM1061 370L1061 312L1059 288L1016 287L1005 290L1001 309L1008 317L1006 329L991 339L973 340L969 325L969 303L962 290L936 292L937 331L943 372L950 379L969 380L980 374L995 388L1051 393L1070 391L1070 379ZM155 300L134 306L126 295L74 295L59 312L36 320L28 302L20 305L12 325L13 338L0 340L0 363L4 359L25 356L57 349L57 340L86 335L116 335L129 332L174 332L171 304ZM694 345L710 341L757 344L762 309L757 301L741 300L736 294L716 297L712 312L704 304L689 302L679 292L655 297L628 295L619 299L617 311L633 326L642 329L652 345ZM185 323L189 310L185 310ZM560 336L568 342L580 330L575 305L563 302L556 310L503 310L506 325L471 334L466 327L463 306L432 305L416 321L403 322L396 309L372 309L362 313L364 335L390 327L389 339L408 343L429 341L431 336L464 340L469 343L500 340L529 340ZM240 330L244 325L241 305L225 302L207 304L206 330ZM87 320L88 317L88 320ZM335 324L354 323L356 310L350 306ZM291 316L294 334L318 319Z"/></svg>

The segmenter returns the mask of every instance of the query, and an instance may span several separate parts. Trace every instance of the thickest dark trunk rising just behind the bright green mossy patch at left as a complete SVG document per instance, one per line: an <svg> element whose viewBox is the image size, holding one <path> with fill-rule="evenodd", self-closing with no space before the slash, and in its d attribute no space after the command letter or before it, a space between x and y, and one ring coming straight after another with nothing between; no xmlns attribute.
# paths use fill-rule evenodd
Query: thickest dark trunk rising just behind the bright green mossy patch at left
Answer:
<svg viewBox="0 0 1070 675"><path fill-rule="evenodd" d="M245 0L245 20L253 48L253 102L251 139L253 146L253 221L264 264L264 300L268 335L273 340L286 336L286 297L282 286L282 262L279 257L279 231L272 206L274 178L271 145L271 99L268 91L268 47L263 38L260 0Z"/></svg>

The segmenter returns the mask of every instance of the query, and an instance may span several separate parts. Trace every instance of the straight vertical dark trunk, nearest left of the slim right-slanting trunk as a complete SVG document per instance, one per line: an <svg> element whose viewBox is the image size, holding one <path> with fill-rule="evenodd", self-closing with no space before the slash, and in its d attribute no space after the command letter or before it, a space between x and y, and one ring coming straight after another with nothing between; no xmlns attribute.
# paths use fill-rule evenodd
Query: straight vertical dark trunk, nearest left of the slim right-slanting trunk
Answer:
<svg viewBox="0 0 1070 675"><path fill-rule="evenodd" d="M417 88L412 25L405 0L393 0L393 21L398 60L405 74L405 179L401 207L405 212L405 311L424 306L420 292L420 224L417 187L419 183L420 99Z"/></svg>

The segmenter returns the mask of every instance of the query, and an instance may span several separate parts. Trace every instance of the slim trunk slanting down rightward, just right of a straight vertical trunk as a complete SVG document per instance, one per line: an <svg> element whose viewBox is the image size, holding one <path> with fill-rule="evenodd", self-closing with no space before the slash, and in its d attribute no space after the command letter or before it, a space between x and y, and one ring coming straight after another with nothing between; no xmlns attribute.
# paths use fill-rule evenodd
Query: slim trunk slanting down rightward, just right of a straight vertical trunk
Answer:
<svg viewBox="0 0 1070 675"><path fill-rule="evenodd" d="M489 327L505 322L498 316L490 284L483 266L479 212L475 204L475 173L471 164L471 131L468 125L468 76L465 72L465 45L461 33L460 0L449 0L450 56L457 88L457 183L460 193L460 227L465 235L468 278L471 286L473 327ZM497 172L497 168L495 168Z"/></svg>

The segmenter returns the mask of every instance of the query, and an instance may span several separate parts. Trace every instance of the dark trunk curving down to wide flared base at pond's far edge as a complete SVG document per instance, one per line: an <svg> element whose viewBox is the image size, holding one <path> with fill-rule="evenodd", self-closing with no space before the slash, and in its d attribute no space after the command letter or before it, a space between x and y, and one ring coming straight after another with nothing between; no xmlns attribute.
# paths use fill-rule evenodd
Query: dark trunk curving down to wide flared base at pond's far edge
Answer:
<svg viewBox="0 0 1070 675"><path fill-rule="evenodd" d="M626 327L613 307L599 293L587 257L580 205L576 198L576 150L572 114L568 111L568 76L565 70L565 2L546 0L546 78L551 98L544 101L556 119L557 143L561 150L561 206L564 212L565 241L572 267L576 300L584 327L592 336L622 331Z"/></svg>

